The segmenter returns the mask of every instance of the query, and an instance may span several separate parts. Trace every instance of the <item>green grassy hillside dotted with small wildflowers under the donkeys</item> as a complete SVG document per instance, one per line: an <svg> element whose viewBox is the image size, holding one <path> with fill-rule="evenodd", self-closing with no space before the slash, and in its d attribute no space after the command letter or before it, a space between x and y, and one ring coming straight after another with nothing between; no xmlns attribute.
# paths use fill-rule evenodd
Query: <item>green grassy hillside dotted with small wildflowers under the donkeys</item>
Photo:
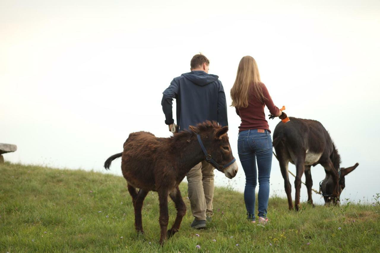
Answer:
<svg viewBox="0 0 380 253"><path fill-rule="evenodd" d="M380 249L378 202L375 206L344 204L315 208L302 204L301 211L294 212L288 210L285 199L271 198L270 223L261 227L245 220L241 193L216 188L213 220L208 229L195 231L190 228L193 217L186 184L180 187L187 213L180 231L161 247L157 193L149 193L144 202L145 234L138 235L133 226L131 198L122 177L0 164L0 253L374 252ZM169 201L169 226L175 214ZM201 248L197 249L196 245Z"/></svg>

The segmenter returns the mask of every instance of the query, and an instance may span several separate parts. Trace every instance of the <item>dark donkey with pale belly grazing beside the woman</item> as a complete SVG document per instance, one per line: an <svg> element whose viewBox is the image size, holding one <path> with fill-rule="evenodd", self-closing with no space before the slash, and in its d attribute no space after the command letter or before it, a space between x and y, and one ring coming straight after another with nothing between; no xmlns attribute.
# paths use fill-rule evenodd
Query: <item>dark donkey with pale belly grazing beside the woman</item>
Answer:
<svg viewBox="0 0 380 253"><path fill-rule="evenodd" d="M340 155L325 127L317 120L290 118L287 123L278 123L273 133L273 147L279 160L289 209L293 209L291 185L289 182L288 163L296 165L294 188L296 197L294 206L298 211L301 177L305 172L307 202L313 205L311 196L313 180L310 167L321 164L325 168L326 177L320 183L320 191L325 203L339 203L339 196L345 187L344 177L359 164L350 168L340 168Z"/></svg>

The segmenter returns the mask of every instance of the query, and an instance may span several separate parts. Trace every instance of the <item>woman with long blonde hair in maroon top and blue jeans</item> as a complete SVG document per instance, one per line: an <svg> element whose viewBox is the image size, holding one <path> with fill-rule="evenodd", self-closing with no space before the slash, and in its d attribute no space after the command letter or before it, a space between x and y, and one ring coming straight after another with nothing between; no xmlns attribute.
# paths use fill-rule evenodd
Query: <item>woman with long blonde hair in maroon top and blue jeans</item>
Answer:
<svg viewBox="0 0 380 253"><path fill-rule="evenodd" d="M255 223L255 188L258 170L258 223L268 222L267 207L269 199L269 177L272 167L272 139L264 107L271 112L270 118L285 118L273 104L266 86L260 81L255 59L244 56L237 68L236 80L231 89L232 105L241 118L237 152L245 173L244 201L247 218Z"/></svg>

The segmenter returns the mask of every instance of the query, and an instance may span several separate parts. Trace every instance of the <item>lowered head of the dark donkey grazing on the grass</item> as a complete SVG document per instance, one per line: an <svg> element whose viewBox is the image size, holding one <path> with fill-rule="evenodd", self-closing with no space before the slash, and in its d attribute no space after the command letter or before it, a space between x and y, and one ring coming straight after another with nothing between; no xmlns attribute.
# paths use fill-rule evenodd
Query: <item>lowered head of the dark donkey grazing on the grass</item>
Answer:
<svg viewBox="0 0 380 253"><path fill-rule="evenodd" d="M334 197L333 192L336 188L336 184L334 183L334 180L332 179L332 176L330 173L326 173L325 179L323 179L320 182L320 191L322 192L323 198L325 199L325 204L339 204L339 197L340 193L342 193L343 189L345 188L345 176L356 169L358 167L359 163L356 163L354 166L351 166L349 168L340 168L339 174L339 184L338 184L338 197ZM339 171L339 170L338 170Z"/></svg>

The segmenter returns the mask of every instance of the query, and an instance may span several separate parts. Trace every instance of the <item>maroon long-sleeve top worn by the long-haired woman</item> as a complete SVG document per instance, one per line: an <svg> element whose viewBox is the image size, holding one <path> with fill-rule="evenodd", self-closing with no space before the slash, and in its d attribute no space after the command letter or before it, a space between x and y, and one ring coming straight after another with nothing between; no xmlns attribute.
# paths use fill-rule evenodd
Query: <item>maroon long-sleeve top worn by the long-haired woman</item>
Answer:
<svg viewBox="0 0 380 253"><path fill-rule="evenodd" d="M268 107L271 114L280 114L280 109L274 105L266 86L263 83L260 83L260 85L263 89L263 95L266 98L264 99L264 103L261 103L261 101L255 97L254 91L251 89L248 97L248 106L246 108L235 108L237 115L239 115L241 119L239 132L249 129L266 129L270 132L268 121L265 119L265 106Z"/></svg>

